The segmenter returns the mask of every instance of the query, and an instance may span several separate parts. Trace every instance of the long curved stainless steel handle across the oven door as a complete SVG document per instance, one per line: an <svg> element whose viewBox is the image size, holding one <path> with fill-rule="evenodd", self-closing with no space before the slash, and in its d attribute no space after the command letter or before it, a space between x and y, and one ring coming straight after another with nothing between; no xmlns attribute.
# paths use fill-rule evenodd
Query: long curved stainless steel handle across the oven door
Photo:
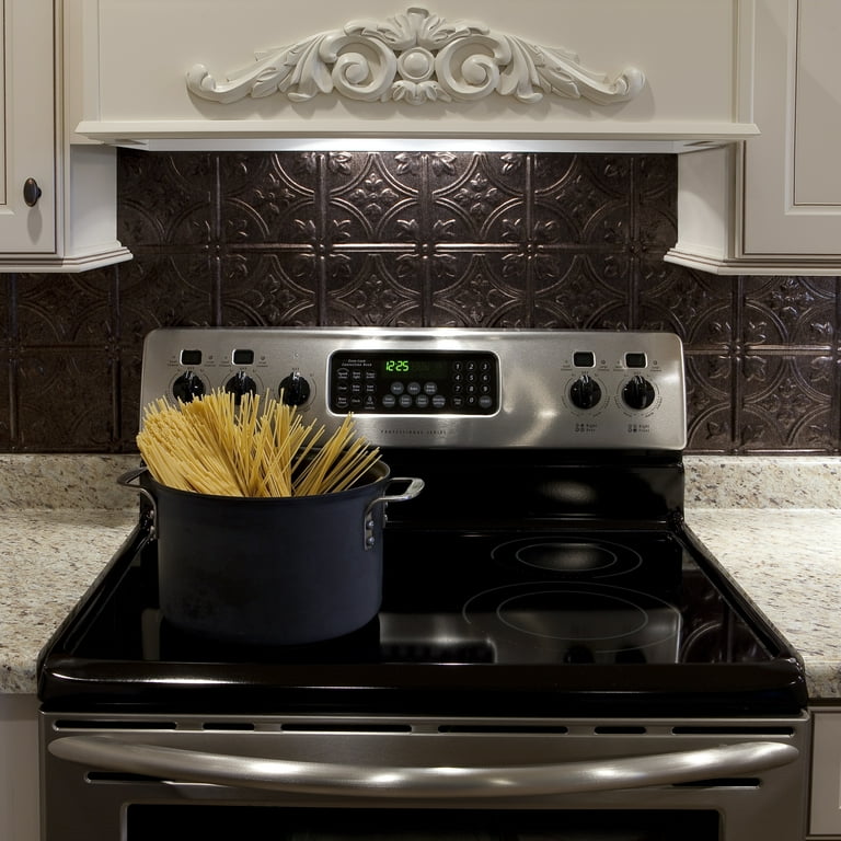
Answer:
<svg viewBox="0 0 841 841"><path fill-rule="evenodd" d="M401 768L299 762L143 745L106 735L66 736L49 752L100 770L170 782L313 795L526 797L610 792L754 774L794 762L793 745L753 741L619 759L489 768Z"/></svg>

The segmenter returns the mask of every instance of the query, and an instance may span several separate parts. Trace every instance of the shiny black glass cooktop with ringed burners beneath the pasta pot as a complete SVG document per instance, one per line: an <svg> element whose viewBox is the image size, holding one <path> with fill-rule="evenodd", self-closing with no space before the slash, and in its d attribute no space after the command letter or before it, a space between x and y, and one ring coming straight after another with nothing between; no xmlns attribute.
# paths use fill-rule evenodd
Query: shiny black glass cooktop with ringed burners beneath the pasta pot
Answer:
<svg viewBox="0 0 841 841"><path fill-rule="evenodd" d="M139 528L42 655L53 708L794 713L803 669L676 529L388 529L382 609L336 640L220 643L161 615Z"/></svg>

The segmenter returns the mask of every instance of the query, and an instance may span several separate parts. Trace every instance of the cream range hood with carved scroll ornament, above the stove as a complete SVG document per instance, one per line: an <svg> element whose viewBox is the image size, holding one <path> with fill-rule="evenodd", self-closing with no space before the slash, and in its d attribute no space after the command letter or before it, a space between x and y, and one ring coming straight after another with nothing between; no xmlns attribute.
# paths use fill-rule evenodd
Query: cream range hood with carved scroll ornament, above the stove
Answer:
<svg viewBox="0 0 841 841"><path fill-rule="evenodd" d="M108 142L677 151L756 134L745 0L83 2L78 130Z"/></svg>

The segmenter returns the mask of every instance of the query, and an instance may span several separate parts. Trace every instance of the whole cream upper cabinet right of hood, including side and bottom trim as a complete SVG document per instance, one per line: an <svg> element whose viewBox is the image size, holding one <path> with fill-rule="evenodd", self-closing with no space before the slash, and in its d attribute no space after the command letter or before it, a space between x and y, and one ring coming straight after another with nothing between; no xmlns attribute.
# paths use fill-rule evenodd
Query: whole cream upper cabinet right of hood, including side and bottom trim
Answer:
<svg viewBox="0 0 841 841"><path fill-rule="evenodd" d="M841 274L838 0L756 0L744 145L682 155L667 260L718 274Z"/></svg>

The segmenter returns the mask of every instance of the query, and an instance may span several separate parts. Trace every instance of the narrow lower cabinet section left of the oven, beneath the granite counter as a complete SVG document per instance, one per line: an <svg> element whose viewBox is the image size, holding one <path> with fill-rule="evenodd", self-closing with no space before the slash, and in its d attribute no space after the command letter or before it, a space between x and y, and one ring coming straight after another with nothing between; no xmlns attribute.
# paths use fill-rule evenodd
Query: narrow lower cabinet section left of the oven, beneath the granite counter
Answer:
<svg viewBox="0 0 841 841"><path fill-rule="evenodd" d="M0 693L0 839L38 841L38 700Z"/></svg>

